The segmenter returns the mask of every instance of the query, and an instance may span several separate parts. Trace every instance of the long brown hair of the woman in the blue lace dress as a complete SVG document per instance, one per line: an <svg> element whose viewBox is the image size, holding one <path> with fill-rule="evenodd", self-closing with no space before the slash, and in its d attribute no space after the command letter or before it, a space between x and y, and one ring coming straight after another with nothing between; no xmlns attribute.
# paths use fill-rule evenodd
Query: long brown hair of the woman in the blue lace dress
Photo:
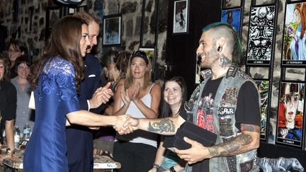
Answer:
<svg viewBox="0 0 306 172"><path fill-rule="evenodd" d="M84 62L81 56L80 40L81 26L87 23L75 16L65 16L55 22L52 27L50 39L45 47L45 54L40 61L31 68L29 75L30 84L36 87L42 67L49 57L61 57L71 62L74 66L77 91L84 78Z"/></svg>

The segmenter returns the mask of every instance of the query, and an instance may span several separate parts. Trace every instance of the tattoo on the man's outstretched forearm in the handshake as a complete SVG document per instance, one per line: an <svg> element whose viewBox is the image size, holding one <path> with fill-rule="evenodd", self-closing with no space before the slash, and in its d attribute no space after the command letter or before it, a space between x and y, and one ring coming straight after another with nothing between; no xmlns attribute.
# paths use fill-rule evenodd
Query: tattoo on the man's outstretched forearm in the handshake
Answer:
<svg viewBox="0 0 306 172"><path fill-rule="evenodd" d="M149 122L149 126L147 130L149 132L155 133L163 133L163 132L175 132L176 126L172 120L164 119L160 120L159 122Z"/></svg>

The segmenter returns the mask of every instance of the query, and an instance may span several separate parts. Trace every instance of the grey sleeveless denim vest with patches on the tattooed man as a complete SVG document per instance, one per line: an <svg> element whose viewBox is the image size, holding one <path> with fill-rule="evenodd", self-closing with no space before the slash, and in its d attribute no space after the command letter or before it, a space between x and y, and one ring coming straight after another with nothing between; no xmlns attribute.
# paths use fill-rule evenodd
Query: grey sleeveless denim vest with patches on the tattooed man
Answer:
<svg viewBox="0 0 306 172"><path fill-rule="evenodd" d="M211 78L210 69L203 71L203 78L204 81L193 91L190 101L185 105L186 111L190 113L188 118L194 124L197 121L198 102L205 84ZM251 81L256 86L251 77L241 71L236 64L232 64L217 88L212 110L213 124L217 134L216 144L226 142L241 134L241 131L235 126L235 111L239 89L246 81ZM256 149L236 156L215 157L210 159L210 171L259 171L256 159ZM187 165L186 171L192 171L192 167Z"/></svg>

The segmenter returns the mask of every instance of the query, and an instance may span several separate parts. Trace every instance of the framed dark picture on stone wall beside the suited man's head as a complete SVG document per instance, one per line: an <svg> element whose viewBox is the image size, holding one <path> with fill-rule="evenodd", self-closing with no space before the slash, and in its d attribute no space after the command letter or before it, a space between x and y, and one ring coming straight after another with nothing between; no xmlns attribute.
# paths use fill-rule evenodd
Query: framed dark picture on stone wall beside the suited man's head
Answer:
<svg viewBox="0 0 306 172"><path fill-rule="evenodd" d="M121 18L121 13L103 17L103 45L121 45Z"/></svg>

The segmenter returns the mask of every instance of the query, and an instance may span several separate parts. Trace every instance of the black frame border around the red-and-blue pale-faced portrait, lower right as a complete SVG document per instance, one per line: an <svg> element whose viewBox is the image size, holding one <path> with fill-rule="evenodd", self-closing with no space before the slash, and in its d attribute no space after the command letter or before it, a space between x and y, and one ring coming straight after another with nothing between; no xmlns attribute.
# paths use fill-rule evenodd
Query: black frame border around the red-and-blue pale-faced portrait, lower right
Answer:
<svg viewBox="0 0 306 172"><path fill-rule="evenodd" d="M281 84L282 83L290 83L290 84L305 84L305 93L306 93L306 83L304 81L290 81L290 80L280 80L279 82L279 91L278 91L278 106L277 106L277 114L276 114L276 135L275 135L275 144L278 145L285 145L287 147L295 147L295 148L299 148L302 149L303 144L305 142L304 138L304 132L305 132L305 102L303 105L303 119L302 119L302 135L301 135L301 141L300 141L300 145L295 145L295 144L288 144L288 143L284 143L284 142L278 142L278 116L279 116L279 105L280 105L280 92L281 92ZM304 95L304 100L305 100L305 95ZM281 139L281 138L279 138ZM281 139L284 140L284 139ZM294 142L294 141L293 141ZM298 141L297 141L298 142Z"/></svg>

